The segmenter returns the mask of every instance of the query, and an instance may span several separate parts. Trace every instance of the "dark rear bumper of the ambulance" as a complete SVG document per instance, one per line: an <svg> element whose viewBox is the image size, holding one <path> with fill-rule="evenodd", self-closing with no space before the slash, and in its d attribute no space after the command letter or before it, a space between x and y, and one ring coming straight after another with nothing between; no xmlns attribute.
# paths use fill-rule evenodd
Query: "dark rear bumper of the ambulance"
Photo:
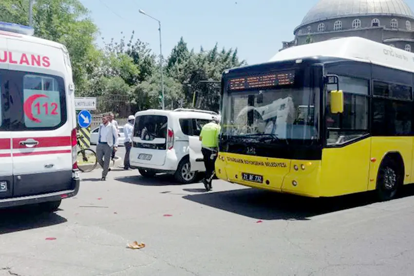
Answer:
<svg viewBox="0 0 414 276"><path fill-rule="evenodd" d="M29 204L38 204L48 201L57 201L64 198L75 197L79 192L80 178L72 178L73 190L59 191L27 197L10 197L0 199L0 208L17 207Z"/></svg>

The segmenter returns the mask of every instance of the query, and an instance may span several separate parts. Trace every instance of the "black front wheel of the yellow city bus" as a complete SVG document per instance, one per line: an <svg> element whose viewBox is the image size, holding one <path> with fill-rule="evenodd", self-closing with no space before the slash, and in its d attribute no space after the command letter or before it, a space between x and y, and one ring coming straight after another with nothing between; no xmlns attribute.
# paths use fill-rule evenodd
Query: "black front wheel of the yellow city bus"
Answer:
<svg viewBox="0 0 414 276"><path fill-rule="evenodd" d="M381 163L376 180L376 194L380 201L387 201L396 196L402 184L402 171L391 158L386 158Z"/></svg>

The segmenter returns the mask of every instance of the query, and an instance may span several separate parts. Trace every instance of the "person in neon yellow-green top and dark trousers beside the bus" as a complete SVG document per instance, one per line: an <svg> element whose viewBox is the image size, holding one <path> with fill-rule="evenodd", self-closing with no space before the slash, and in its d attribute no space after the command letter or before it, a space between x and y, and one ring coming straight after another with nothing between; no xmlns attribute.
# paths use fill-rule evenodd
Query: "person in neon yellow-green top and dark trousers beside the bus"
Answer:
<svg viewBox="0 0 414 276"><path fill-rule="evenodd" d="M220 120L213 117L209 123L203 126L200 133L201 152L206 167L206 177L203 179L203 183L207 191L211 190L211 181L214 177L215 162L219 147L219 123Z"/></svg>

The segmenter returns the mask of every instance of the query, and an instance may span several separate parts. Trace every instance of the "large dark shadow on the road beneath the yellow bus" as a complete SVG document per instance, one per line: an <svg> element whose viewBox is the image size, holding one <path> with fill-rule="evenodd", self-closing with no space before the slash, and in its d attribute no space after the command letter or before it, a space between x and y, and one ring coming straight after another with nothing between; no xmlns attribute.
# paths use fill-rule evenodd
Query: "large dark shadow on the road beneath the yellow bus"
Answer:
<svg viewBox="0 0 414 276"><path fill-rule="evenodd" d="M414 196L414 186L407 188L404 189L401 197ZM188 195L183 198L245 217L263 220L309 220L318 215L376 202L376 197L372 192L332 198L309 198L250 188Z"/></svg>

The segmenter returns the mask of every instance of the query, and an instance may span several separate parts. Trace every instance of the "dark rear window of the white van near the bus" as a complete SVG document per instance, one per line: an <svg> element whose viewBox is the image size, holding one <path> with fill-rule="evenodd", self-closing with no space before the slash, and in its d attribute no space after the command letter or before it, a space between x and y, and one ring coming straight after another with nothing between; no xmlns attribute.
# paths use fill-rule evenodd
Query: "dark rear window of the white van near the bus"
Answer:
<svg viewBox="0 0 414 276"><path fill-rule="evenodd" d="M167 138L167 116L142 115L135 119L134 137L143 140Z"/></svg>

